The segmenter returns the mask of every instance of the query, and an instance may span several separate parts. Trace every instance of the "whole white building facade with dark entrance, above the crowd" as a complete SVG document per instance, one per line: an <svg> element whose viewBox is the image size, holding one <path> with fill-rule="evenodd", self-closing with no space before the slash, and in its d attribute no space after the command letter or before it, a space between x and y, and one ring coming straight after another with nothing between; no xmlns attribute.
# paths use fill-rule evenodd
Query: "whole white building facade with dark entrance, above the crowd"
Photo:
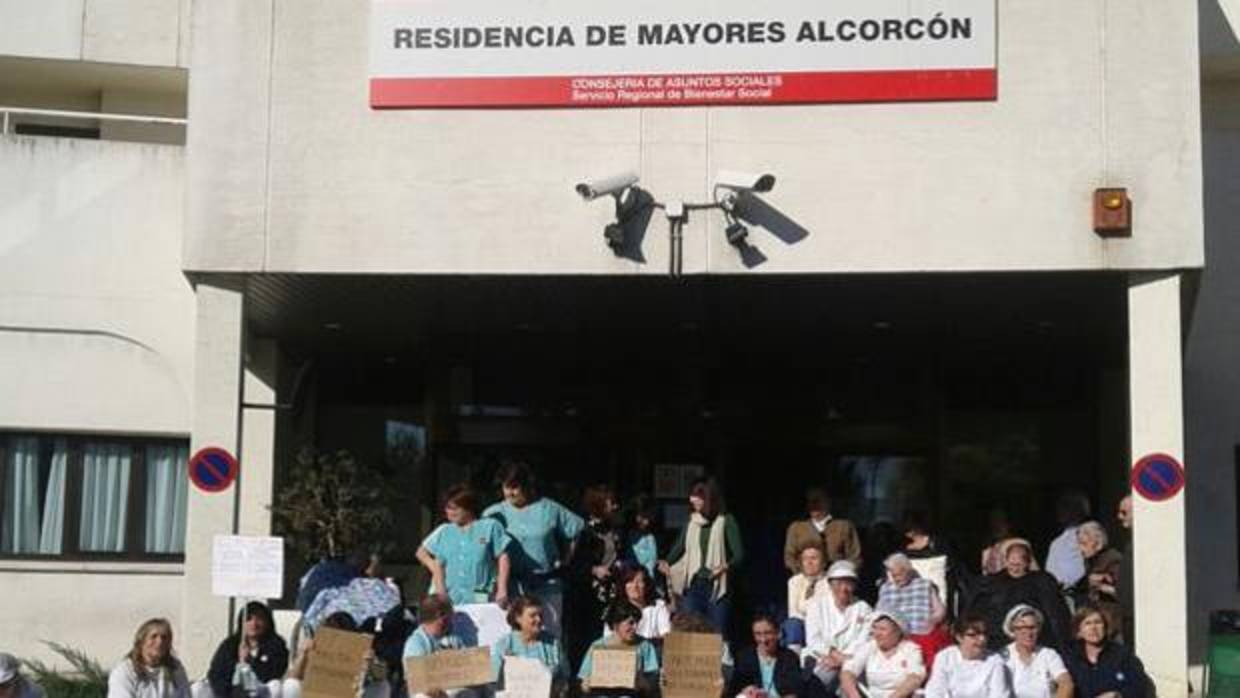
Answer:
<svg viewBox="0 0 1240 698"><path fill-rule="evenodd" d="M1167 453L1188 488L1138 497L1133 531L1159 694L1238 603L1228 2L996 2L993 98L605 109L376 109L382 2L10 5L6 650L110 658L166 615L201 673L229 615L212 537L270 533L305 445L402 479L405 553L441 486L507 456L564 496L701 464L756 541L828 481L868 523L916 505L973 542L985 506L1047 538L1065 488L1111 523ZM614 253L611 202L574 192L630 170L662 203L713 201L719 170L776 185L745 245L691 211L670 279L662 211ZM1107 187L1130 236L1094 231ZM170 464L202 446L239 485L187 487Z"/></svg>

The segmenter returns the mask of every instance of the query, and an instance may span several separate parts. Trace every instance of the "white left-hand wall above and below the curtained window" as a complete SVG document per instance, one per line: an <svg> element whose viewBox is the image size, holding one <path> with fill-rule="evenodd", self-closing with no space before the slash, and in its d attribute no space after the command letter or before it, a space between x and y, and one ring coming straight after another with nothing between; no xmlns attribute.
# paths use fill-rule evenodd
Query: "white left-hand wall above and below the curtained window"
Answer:
<svg viewBox="0 0 1240 698"><path fill-rule="evenodd" d="M182 149L0 138L0 429L187 435L193 293ZM114 663L176 622L181 565L0 560L4 650ZM61 662L63 663L63 662Z"/></svg>

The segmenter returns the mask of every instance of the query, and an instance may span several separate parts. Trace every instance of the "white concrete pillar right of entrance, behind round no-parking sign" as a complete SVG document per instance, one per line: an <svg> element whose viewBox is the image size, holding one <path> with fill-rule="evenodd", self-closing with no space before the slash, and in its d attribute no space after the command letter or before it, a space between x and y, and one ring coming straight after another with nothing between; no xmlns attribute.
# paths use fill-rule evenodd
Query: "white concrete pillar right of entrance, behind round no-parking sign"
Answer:
<svg viewBox="0 0 1240 698"><path fill-rule="evenodd" d="M1166 453L1183 460L1184 424L1178 274L1128 283L1128 391L1133 460ZM1137 655L1162 698L1188 696L1188 591L1184 495L1133 496L1132 572Z"/></svg>

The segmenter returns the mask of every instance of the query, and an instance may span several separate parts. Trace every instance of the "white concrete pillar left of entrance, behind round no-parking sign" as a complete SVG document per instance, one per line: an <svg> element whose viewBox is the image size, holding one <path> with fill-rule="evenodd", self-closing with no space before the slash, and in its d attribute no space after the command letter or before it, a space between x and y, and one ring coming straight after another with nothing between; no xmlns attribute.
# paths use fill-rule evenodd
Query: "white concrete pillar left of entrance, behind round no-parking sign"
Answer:
<svg viewBox="0 0 1240 698"><path fill-rule="evenodd" d="M238 455L244 291L241 279L200 283L193 366L193 434L190 450L218 446ZM242 460L242 479L247 464ZM176 650L191 677L206 674L211 653L228 631L228 599L211 595L211 542L233 531L236 487L206 493L190 487L185 531L185 583Z"/></svg>

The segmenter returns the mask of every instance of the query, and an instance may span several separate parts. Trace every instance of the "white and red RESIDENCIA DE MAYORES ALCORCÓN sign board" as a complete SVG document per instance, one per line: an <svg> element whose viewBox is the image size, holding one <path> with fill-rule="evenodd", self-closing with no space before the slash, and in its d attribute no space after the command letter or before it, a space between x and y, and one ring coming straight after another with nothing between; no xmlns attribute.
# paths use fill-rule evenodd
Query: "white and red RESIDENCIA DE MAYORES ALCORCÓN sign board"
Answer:
<svg viewBox="0 0 1240 698"><path fill-rule="evenodd" d="M994 99L996 0L372 0L371 107Z"/></svg>

